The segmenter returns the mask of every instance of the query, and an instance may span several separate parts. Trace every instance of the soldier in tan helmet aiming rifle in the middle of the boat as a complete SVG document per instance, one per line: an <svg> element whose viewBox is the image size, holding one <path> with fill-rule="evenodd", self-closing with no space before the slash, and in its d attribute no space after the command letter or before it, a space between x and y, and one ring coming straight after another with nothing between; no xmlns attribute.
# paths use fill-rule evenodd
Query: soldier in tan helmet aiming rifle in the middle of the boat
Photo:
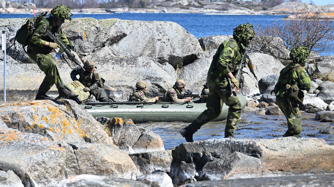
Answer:
<svg viewBox="0 0 334 187"><path fill-rule="evenodd" d="M182 79L179 79L175 82L174 86L169 89L165 95L164 95L164 101L167 101L167 102L190 102L192 103L191 101L191 97L187 97L185 99L178 99L177 98L177 94L183 94L183 90L186 86L186 82Z"/></svg>

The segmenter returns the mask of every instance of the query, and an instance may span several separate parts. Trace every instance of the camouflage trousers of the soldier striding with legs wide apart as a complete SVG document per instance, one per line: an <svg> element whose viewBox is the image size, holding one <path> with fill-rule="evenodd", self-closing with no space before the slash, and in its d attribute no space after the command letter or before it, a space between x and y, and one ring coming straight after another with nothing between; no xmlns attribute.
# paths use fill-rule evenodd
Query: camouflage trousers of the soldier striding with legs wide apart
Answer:
<svg viewBox="0 0 334 187"><path fill-rule="evenodd" d="M201 128L202 125L217 118L225 103L228 108L226 126L225 126L225 137L233 135L236 124L239 121L242 105L237 96L231 93L229 86L215 85L215 87L209 86L209 94L206 101L207 109L204 110L196 119L193 121L189 128L196 132Z"/></svg>

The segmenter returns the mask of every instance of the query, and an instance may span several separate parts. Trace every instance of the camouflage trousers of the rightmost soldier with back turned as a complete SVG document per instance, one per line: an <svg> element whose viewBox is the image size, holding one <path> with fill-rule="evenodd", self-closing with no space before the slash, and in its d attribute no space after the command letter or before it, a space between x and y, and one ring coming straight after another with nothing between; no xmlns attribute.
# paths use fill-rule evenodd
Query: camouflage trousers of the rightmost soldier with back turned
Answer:
<svg viewBox="0 0 334 187"><path fill-rule="evenodd" d="M298 104L291 100L291 106L293 111L289 108L288 99L282 97L276 97L276 103L284 113L287 118L288 130L283 135L283 137L287 136L295 136L299 137L301 132L301 124L302 124L302 115L299 112Z"/></svg>

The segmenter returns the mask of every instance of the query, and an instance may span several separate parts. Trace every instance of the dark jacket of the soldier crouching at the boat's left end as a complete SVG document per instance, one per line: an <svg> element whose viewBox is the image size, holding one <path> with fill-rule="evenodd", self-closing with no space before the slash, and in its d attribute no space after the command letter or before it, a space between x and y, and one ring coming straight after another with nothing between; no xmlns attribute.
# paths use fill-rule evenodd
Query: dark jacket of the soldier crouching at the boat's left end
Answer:
<svg viewBox="0 0 334 187"><path fill-rule="evenodd" d="M85 87L89 87L92 90L97 89L98 87L102 87L101 80L96 80L95 74L98 73L95 69L94 72L90 73L87 71L83 71L81 67L77 66L71 71L71 79L73 81L78 80ZM76 78L76 75L79 75L79 79Z"/></svg>

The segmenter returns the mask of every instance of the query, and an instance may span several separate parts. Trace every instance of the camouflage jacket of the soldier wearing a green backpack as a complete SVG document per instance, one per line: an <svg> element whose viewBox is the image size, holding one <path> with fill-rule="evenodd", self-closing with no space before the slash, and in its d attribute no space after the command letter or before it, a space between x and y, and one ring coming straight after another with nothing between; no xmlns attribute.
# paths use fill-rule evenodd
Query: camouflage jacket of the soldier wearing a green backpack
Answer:
<svg viewBox="0 0 334 187"><path fill-rule="evenodd" d="M48 23L46 23L48 22ZM52 26L53 21L52 18L46 18L44 20L40 20L37 23L37 28L35 29L35 31L32 33L31 38L29 40L28 43L28 47L30 50L32 51L36 51L38 53L41 54L49 54L53 49L48 47L48 46L44 46L44 44L46 42L54 42L53 40L51 40L50 37L48 36L43 36L44 33L46 32L46 29L48 29L49 31L51 31L52 33L59 33L61 36L61 40L66 44L66 45L71 45L71 43L68 41L68 39L66 38L63 30L61 29L61 27ZM49 25L49 28L47 28L47 25Z"/></svg>

